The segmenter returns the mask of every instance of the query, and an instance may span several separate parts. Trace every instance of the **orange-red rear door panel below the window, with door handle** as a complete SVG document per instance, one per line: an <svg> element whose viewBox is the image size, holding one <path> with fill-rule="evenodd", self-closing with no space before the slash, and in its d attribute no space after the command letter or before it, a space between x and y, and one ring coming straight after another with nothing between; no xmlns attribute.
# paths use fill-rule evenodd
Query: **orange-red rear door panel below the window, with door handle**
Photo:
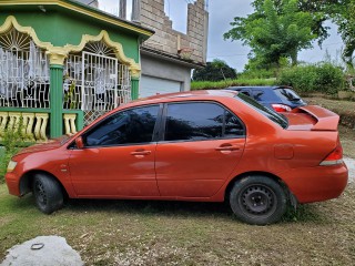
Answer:
<svg viewBox="0 0 355 266"><path fill-rule="evenodd" d="M159 143L155 171L161 195L213 196L237 166L244 144L245 139Z"/></svg>

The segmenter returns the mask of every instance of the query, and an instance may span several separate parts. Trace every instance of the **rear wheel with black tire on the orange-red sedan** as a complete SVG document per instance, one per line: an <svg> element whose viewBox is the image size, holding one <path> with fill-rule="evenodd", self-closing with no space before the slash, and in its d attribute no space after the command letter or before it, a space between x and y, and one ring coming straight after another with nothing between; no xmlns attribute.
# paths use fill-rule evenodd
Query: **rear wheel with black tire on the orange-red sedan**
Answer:
<svg viewBox="0 0 355 266"><path fill-rule="evenodd" d="M235 216L252 225L276 223L287 203L283 187L266 176L246 176L237 181L229 200Z"/></svg>

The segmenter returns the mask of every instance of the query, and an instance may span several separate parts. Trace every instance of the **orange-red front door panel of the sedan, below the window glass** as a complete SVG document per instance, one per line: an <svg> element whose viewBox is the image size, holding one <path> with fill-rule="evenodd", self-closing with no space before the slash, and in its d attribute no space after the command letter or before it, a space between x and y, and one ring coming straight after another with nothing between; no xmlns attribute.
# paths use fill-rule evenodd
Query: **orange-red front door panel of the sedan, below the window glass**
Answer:
<svg viewBox="0 0 355 266"><path fill-rule="evenodd" d="M69 170L75 194L79 197L159 196L155 146L152 143L72 150Z"/></svg>

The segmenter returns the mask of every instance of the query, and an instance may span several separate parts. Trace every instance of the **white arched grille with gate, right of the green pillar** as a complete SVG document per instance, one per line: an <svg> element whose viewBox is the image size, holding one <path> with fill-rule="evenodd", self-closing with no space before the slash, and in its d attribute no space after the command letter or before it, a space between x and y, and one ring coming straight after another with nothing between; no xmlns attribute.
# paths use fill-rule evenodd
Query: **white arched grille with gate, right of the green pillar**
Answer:
<svg viewBox="0 0 355 266"><path fill-rule="evenodd" d="M102 41L70 54L63 79L63 109L83 110L84 125L131 100L129 68Z"/></svg>

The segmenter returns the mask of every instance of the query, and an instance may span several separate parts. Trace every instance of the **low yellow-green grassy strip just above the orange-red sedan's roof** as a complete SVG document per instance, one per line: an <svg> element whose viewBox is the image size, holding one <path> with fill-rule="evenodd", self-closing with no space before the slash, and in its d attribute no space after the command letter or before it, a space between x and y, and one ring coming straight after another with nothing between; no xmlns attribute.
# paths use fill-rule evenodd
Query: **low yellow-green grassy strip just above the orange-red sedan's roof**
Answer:
<svg viewBox="0 0 355 266"><path fill-rule="evenodd" d="M191 90L214 90L224 89L227 86L239 86L239 85L275 85L275 79L237 79L237 80L226 80L226 81L193 81L191 83Z"/></svg>

